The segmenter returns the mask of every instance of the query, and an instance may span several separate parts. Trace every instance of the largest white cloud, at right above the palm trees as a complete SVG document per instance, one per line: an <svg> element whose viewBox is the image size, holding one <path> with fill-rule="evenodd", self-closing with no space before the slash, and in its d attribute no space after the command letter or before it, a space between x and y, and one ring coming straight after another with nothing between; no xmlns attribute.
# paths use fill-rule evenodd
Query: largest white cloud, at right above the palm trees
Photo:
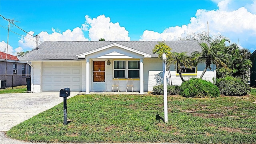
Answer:
<svg viewBox="0 0 256 144"><path fill-rule="evenodd" d="M230 0L220 1L219 10L197 10L196 17L186 26L169 27L162 33L145 30L140 40L177 40L186 34L207 32L209 22L210 35L227 36L232 42L256 45L256 14L245 7L229 10ZM254 3L255 4L255 3ZM250 49L250 48L249 48Z"/></svg>

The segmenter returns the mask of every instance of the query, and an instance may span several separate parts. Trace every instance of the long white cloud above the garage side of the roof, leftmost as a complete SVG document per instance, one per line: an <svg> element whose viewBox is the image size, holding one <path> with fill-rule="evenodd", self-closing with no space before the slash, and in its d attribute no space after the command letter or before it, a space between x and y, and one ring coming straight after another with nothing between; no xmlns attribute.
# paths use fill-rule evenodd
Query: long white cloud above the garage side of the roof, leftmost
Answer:
<svg viewBox="0 0 256 144"><path fill-rule="evenodd" d="M36 38L30 34L34 35L34 32L30 31L29 34L25 36L26 38L21 38L19 40L19 45L23 49L33 49L36 47ZM66 30L62 33L56 32L56 30L52 28L52 34L48 34L48 32L40 32L38 36L40 36L38 45L44 41L88 41L88 39L84 37L81 28L78 27L74 28L73 31Z"/></svg>

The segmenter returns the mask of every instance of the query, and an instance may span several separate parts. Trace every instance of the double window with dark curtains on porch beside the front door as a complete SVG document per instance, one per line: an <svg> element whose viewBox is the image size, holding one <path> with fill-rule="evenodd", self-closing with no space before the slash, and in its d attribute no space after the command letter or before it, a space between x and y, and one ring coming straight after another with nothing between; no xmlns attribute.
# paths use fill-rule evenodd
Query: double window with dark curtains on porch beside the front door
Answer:
<svg viewBox="0 0 256 144"><path fill-rule="evenodd" d="M114 78L139 78L140 61L138 60L115 60Z"/></svg>

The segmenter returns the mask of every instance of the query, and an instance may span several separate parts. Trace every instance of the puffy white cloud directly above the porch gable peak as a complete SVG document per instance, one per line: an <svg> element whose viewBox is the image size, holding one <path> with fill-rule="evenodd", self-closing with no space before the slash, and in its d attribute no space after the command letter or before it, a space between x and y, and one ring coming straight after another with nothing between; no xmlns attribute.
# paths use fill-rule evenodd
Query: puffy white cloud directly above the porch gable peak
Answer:
<svg viewBox="0 0 256 144"><path fill-rule="evenodd" d="M89 38L97 41L105 38L107 41L129 41L128 31L121 27L118 22L110 22L110 17L100 15L97 18L89 18L85 16L86 22L82 24L82 30L89 32Z"/></svg>

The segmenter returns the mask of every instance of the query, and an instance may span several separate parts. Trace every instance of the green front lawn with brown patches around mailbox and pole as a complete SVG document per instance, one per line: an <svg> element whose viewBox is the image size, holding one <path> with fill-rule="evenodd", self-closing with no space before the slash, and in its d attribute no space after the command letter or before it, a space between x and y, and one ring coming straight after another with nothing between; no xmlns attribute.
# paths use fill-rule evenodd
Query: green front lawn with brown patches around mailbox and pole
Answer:
<svg viewBox="0 0 256 144"><path fill-rule="evenodd" d="M256 143L256 89L248 96L184 98L168 96L168 123L163 96L78 95L6 132L33 142L182 142Z"/></svg>

